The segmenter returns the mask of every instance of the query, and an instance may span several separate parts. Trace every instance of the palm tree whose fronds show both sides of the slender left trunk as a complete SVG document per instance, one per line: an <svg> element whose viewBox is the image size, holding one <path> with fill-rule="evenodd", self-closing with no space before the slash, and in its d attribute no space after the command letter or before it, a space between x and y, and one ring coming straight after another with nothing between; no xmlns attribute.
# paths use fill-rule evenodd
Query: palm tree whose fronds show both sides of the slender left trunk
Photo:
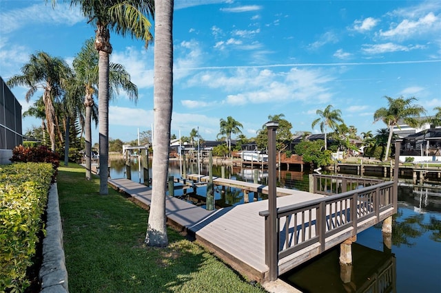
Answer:
<svg viewBox="0 0 441 293"><path fill-rule="evenodd" d="M97 92L96 85L99 80L98 52L94 48L94 40L85 41L79 54L73 61L74 71L77 83L81 86L84 96L85 106L85 158L86 158L86 180L90 180L91 173L91 153L92 153L92 118L96 121L96 106L93 95ZM121 64L110 63L109 72L110 98L114 98L119 88L123 89L127 96L136 102L138 99L138 89L134 83L130 81L130 74L125 71L125 67Z"/></svg>

